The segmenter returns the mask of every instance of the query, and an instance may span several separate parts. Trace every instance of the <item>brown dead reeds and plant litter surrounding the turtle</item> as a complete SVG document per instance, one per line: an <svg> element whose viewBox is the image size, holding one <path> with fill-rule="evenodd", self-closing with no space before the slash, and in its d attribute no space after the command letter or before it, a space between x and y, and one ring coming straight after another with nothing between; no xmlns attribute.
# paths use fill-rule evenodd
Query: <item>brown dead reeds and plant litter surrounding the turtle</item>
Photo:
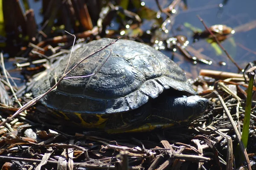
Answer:
<svg viewBox="0 0 256 170"><path fill-rule="evenodd" d="M120 3L42 0L43 21L38 27L34 11L26 4L24 11L19 0L3 1L6 31L4 51L10 57L18 56L15 58L16 70L21 70L27 82L69 52L67 49L73 44L73 35L77 38L76 43L102 37L136 40L159 50L169 50L173 57L182 58L181 62L186 57L194 64L215 65L214 60L188 45L185 36L173 34L170 37L169 32L173 31L177 11L180 8L186 10L184 2L174 0L163 5L156 0L157 9L153 10L140 0L124 0ZM238 70L243 71L240 63L236 63L219 42L232 36L229 33L233 29L224 25L208 28L203 24L206 30L194 37L207 37L217 42ZM249 31L255 26L255 21L251 21L234 30ZM216 27L227 28L227 32L222 31L220 34L215 31ZM188 125L146 133L108 134L102 131L83 131L79 127L67 131L55 124L42 124L39 118L39 121L30 119L29 114L37 116L36 111L41 109L39 105L34 105L40 97L33 99L28 94L22 96L24 88L18 87L15 77L11 77L10 70L6 70L3 55L1 60L2 169L256 169L255 93L252 95L252 107L249 108L251 114L246 149L241 142L250 78L248 75L202 70L192 84L201 96L209 99L210 105L204 116ZM249 68L250 72L255 72L254 65L251 63L245 70ZM256 90L255 85L254 80L253 91ZM44 116L45 119L52 119L49 113Z"/></svg>

